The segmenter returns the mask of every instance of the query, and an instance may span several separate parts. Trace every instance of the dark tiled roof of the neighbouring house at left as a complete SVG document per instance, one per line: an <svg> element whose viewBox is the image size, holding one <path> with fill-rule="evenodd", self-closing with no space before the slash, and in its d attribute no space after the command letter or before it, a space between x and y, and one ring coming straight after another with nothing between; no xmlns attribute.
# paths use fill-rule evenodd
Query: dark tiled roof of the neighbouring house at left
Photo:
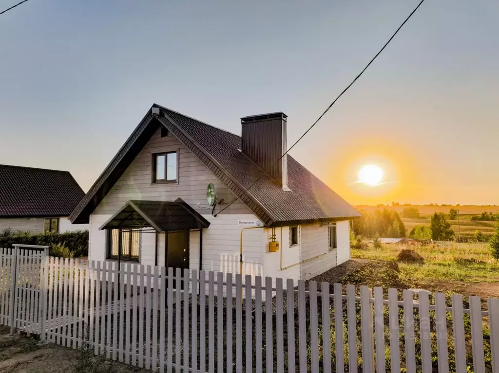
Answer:
<svg viewBox="0 0 499 373"><path fill-rule="evenodd" d="M0 165L0 218L69 216L84 195L67 171Z"/></svg>

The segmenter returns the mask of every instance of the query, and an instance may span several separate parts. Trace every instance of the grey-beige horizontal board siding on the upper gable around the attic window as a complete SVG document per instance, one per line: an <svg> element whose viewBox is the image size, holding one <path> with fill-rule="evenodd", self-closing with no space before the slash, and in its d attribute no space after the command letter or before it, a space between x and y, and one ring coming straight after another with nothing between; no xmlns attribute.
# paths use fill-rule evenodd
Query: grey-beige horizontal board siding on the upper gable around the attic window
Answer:
<svg viewBox="0 0 499 373"><path fill-rule="evenodd" d="M176 151L179 149L179 180L175 184L151 183L152 154ZM213 183L217 189L217 198L226 202L234 194L224 183L187 149L175 136L160 137L160 130L152 136L130 166L97 206L92 215L114 214L128 200L174 201L182 198L201 214L209 210L200 209L197 204L206 206L206 187ZM218 207L222 209L222 207ZM252 214L241 201L231 205L223 214Z"/></svg>

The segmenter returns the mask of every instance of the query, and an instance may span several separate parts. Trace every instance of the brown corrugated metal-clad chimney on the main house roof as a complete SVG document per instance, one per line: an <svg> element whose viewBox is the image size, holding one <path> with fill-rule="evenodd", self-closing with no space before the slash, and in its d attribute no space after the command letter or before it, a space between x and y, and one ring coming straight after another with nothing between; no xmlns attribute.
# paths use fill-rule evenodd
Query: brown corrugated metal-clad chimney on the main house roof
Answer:
<svg viewBox="0 0 499 373"><path fill-rule="evenodd" d="M241 118L241 150L267 171L287 150L284 113ZM287 154L267 172L284 190L287 187Z"/></svg>

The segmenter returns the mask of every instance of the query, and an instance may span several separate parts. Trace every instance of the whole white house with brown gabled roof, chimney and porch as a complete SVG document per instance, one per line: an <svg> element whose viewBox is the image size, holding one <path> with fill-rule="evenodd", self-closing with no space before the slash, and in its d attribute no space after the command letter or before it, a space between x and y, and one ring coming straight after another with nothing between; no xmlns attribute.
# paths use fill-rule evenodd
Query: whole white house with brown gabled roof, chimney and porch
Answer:
<svg viewBox="0 0 499 373"><path fill-rule="evenodd" d="M70 216L90 224L89 259L293 279L348 260L360 214L280 159L286 116L241 125L238 136L153 105Z"/></svg>

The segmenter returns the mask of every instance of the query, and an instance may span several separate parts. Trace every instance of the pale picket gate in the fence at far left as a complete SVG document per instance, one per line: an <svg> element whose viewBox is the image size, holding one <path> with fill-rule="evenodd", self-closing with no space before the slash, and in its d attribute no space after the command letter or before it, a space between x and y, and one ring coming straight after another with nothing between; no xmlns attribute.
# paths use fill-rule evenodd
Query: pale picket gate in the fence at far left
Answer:
<svg viewBox="0 0 499 373"><path fill-rule="evenodd" d="M17 328L27 333L41 334L43 315L40 305L42 304L44 292L40 290L43 283L44 260L48 254L48 247L34 245L13 246L10 270L11 277L15 280L10 283L10 293L13 294L13 302L9 303L12 311L11 314L9 312L9 319L13 320L10 328L11 331Z"/></svg>

